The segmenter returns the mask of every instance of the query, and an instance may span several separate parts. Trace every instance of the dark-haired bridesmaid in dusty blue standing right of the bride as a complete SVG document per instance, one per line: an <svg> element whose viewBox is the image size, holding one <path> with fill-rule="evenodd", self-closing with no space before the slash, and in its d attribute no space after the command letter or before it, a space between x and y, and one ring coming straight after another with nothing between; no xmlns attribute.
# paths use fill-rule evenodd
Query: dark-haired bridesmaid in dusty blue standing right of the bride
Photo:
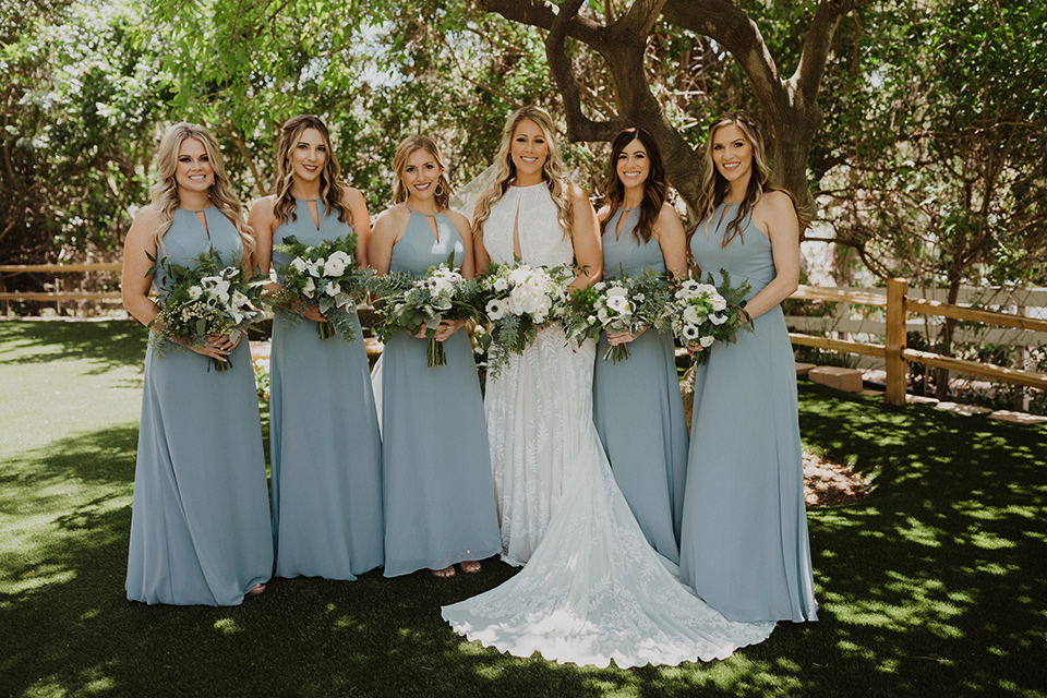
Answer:
<svg viewBox="0 0 1047 698"><path fill-rule="evenodd" d="M603 229L603 273L645 268L686 273L684 227L665 201L669 185L658 145L642 129L626 129L611 146ZM603 361L613 345L629 344L627 361ZM593 421L614 480L663 557L679 563L679 525L687 472L687 422L671 333L642 329L600 337L592 383Z"/></svg>

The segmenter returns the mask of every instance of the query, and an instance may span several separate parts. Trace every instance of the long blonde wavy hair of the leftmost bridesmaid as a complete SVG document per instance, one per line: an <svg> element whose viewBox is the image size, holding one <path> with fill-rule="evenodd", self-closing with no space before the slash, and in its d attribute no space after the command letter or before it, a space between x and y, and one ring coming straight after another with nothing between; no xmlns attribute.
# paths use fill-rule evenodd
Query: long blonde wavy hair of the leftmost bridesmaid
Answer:
<svg viewBox="0 0 1047 698"><path fill-rule="evenodd" d="M210 203L236 226L243 246L249 252L254 251L253 231L243 215L240 200L232 193L229 178L226 177L226 166L218 149L218 141L204 127L184 121L176 123L167 130L156 152L156 183L149 190L153 206L160 216L160 226L153 232L153 241L157 249L164 246L164 236L171 229L174 220L174 209L181 204L178 195L178 181L174 171L178 169L178 152L186 139L200 141L207 153L207 160L215 171L215 181L207 191Z"/></svg>

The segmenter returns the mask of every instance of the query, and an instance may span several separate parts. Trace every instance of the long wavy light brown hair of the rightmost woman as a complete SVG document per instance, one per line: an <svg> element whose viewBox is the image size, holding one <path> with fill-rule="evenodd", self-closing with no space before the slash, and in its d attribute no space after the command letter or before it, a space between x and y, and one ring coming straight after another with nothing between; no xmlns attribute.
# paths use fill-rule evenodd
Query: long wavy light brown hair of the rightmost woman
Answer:
<svg viewBox="0 0 1047 698"><path fill-rule="evenodd" d="M699 221L701 219L706 220L706 234L709 234L709 229L712 226L713 212L717 206L723 203L723 200L726 198L727 193L731 191L730 182L723 178L720 170L717 169L717 164L712 159L712 140L717 135L717 131L727 125L737 127L745 140L753 146L753 168L749 184L745 192L745 198L742 200L737 214L724 229L723 241L720 243L720 246L727 246L735 238L741 238L742 242L745 242L742 224L745 222L745 219L753 213L753 208L767 192L780 191L789 196L790 201L793 202L793 209L796 210L801 230L805 229L810 224L810 220L804 216L803 212L796 206L796 200L793 198L793 195L784 189L780 189L770 183L771 168L767 164L763 135L760 133L756 120L743 111L735 111L722 115L713 121L712 125L709 127L709 136L706 139L706 171L701 178L701 193L698 195L697 206ZM690 237L697 227L696 224L694 228L688 231L688 249L690 246Z"/></svg>

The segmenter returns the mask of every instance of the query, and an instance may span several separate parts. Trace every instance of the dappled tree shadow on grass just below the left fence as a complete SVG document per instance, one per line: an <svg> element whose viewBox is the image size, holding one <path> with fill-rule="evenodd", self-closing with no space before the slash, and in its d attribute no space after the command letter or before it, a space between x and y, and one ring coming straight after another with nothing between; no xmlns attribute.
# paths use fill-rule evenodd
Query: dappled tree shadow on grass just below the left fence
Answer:
<svg viewBox="0 0 1047 698"><path fill-rule="evenodd" d="M89 373L142 365L148 330L130 320L100 322L0 322L0 364L47 363L57 359L86 359L98 363Z"/></svg>

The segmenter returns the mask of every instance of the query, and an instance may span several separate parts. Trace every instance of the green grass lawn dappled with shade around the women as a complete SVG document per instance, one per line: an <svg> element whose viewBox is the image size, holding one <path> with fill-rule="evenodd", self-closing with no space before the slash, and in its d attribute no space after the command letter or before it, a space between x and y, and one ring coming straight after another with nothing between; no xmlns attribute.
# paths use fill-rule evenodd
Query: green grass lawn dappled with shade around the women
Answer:
<svg viewBox="0 0 1047 698"><path fill-rule="evenodd" d="M131 322L0 323L0 696L1047 697L1044 428L803 383L805 444L875 485L809 512L820 622L725 661L598 670L452 633L440 606L513 574L494 561L129 603L144 342Z"/></svg>

